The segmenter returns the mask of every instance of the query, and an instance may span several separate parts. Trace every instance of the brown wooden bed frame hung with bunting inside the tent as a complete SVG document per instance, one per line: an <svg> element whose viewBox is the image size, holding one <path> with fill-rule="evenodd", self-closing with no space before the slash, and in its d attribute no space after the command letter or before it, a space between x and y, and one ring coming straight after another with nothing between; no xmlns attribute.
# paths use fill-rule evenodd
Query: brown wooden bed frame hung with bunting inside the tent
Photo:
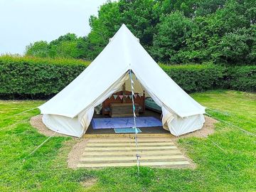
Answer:
<svg viewBox="0 0 256 192"><path fill-rule="evenodd" d="M138 95L138 92L134 92L134 95ZM119 91L115 92L113 95L132 95L132 92L130 91ZM102 102L102 114L110 114L110 104L112 103L131 103L132 104L132 99L130 97L123 97L122 100L120 99L119 96L117 96L116 99L114 99L114 96L111 96L110 98L107 98L104 102ZM143 93L143 96L137 96L134 98L134 103L139 105L139 113L144 113L145 112L145 92Z"/></svg>

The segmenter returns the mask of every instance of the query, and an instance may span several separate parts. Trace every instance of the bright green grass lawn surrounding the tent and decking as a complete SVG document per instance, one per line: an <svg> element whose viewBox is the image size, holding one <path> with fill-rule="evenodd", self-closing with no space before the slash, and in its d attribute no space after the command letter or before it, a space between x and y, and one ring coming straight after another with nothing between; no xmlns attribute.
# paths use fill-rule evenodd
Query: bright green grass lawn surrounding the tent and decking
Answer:
<svg viewBox="0 0 256 192"><path fill-rule="evenodd" d="M192 97L221 112L207 110L213 117L256 134L255 94L219 90ZM12 115L43 102L0 101L0 191L256 191L256 137L223 122L206 139L179 140L196 169L142 167L140 176L136 167L68 169L66 158L75 142L70 137L53 137L29 155L47 139L26 121L39 111ZM89 178L97 183L84 188L80 182Z"/></svg>

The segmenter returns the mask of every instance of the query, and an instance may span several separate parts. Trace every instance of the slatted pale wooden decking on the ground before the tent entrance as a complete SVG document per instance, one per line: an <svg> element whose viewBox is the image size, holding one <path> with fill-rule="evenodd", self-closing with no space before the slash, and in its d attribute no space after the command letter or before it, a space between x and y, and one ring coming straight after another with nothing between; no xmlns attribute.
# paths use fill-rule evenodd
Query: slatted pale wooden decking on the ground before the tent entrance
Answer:
<svg viewBox="0 0 256 192"><path fill-rule="evenodd" d="M136 166L137 151L141 156L141 166L190 166L188 159L174 144L171 134L139 134L138 147L134 141L134 134L91 134L85 135L85 138L87 144L78 167Z"/></svg>

